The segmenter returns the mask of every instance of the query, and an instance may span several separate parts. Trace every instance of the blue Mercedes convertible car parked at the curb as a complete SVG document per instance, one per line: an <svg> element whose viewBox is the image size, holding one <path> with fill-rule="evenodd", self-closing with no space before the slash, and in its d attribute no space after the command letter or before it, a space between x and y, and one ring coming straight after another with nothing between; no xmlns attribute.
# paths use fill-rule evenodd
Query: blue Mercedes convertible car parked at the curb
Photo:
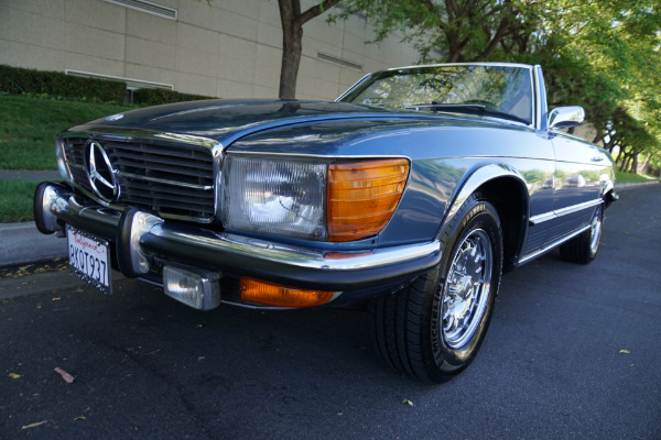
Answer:
<svg viewBox="0 0 661 440"><path fill-rule="evenodd" d="M111 268L198 309L368 305L394 369L475 358L500 276L560 246L589 263L610 156L560 129L542 70L445 64L362 78L335 102L209 100L74 127L36 224L111 292Z"/></svg>

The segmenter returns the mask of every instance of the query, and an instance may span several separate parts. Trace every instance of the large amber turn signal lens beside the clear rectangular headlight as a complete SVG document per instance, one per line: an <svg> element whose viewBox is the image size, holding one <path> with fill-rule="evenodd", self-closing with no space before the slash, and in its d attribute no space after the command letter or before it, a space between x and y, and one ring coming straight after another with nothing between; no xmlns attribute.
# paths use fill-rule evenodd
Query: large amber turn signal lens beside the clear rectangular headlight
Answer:
<svg viewBox="0 0 661 440"><path fill-rule="evenodd" d="M399 204L408 176L405 158L330 164L328 240L358 240L381 232Z"/></svg>

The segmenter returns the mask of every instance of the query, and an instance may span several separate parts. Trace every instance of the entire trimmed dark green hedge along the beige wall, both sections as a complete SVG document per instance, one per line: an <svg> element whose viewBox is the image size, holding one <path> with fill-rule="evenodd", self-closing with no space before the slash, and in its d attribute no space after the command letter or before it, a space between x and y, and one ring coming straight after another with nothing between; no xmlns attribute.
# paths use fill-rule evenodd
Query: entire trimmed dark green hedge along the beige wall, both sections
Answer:
<svg viewBox="0 0 661 440"><path fill-rule="evenodd" d="M0 65L0 92L9 95L48 95L57 98L94 102L126 103L129 94L123 81L86 78L62 72L42 72ZM180 94L164 89L139 89L133 92L138 106L209 99L201 95Z"/></svg>

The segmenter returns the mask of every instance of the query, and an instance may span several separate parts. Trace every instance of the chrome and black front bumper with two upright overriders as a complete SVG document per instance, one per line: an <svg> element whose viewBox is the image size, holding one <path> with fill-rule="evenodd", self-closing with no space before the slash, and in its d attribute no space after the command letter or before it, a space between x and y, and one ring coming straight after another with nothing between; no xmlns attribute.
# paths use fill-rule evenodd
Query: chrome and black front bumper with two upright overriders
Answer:
<svg viewBox="0 0 661 440"><path fill-rule="evenodd" d="M34 217L39 231L45 234L66 237L68 224L107 240L113 244L112 260L124 276L163 284L170 296L173 295L163 283L164 274L194 274L198 277L199 297L193 304L183 302L205 310L221 301L288 307L286 301L252 304L241 299L243 277L280 285L284 288L281 296L290 290L324 292L330 294L324 304L354 302L393 292L441 258L437 241L330 252L215 232L164 220L137 208L118 211L82 205L71 187L48 182L36 188ZM237 283L239 279L241 283Z"/></svg>

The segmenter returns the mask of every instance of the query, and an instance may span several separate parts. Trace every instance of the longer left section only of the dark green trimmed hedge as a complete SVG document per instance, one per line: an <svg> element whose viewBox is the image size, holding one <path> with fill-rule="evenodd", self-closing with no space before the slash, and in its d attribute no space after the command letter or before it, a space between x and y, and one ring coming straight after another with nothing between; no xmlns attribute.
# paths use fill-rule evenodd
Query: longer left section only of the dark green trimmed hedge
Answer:
<svg viewBox="0 0 661 440"><path fill-rule="evenodd" d="M50 95L123 103L127 86L121 81L108 79L85 78L61 72L40 72L0 65L0 91L10 95Z"/></svg>

